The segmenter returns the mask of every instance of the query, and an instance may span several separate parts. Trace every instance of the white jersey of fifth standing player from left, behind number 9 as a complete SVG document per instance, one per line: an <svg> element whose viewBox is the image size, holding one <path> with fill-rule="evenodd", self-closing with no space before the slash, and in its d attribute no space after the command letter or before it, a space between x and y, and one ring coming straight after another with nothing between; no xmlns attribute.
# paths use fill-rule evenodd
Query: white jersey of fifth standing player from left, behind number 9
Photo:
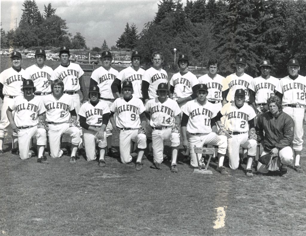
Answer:
<svg viewBox="0 0 306 236"><path fill-rule="evenodd" d="M129 66L126 69L123 69L119 72L117 79L121 80L121 87L124 81L131 81L133 85L133 97L142 98L141 93L141 82L145 70L139 68L137 71L133 69L132 66Z"/></svg>

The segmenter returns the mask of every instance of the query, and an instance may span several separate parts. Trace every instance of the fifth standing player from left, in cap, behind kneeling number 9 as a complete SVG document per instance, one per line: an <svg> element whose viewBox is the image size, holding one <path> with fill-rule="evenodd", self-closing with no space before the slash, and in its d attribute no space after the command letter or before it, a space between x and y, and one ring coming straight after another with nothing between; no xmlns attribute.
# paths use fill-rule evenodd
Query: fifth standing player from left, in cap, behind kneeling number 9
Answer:
<svg viewBox="0 0 306 236"><path fill-rule="evenodd" d="M133 85L133 97L142 99L141 82L145 70L140 68L141 55L138 51L132 52L132 65L119 72L117 78L111 85L116 98L120 98L121 85L124 81L131 81Z"/></svg>

